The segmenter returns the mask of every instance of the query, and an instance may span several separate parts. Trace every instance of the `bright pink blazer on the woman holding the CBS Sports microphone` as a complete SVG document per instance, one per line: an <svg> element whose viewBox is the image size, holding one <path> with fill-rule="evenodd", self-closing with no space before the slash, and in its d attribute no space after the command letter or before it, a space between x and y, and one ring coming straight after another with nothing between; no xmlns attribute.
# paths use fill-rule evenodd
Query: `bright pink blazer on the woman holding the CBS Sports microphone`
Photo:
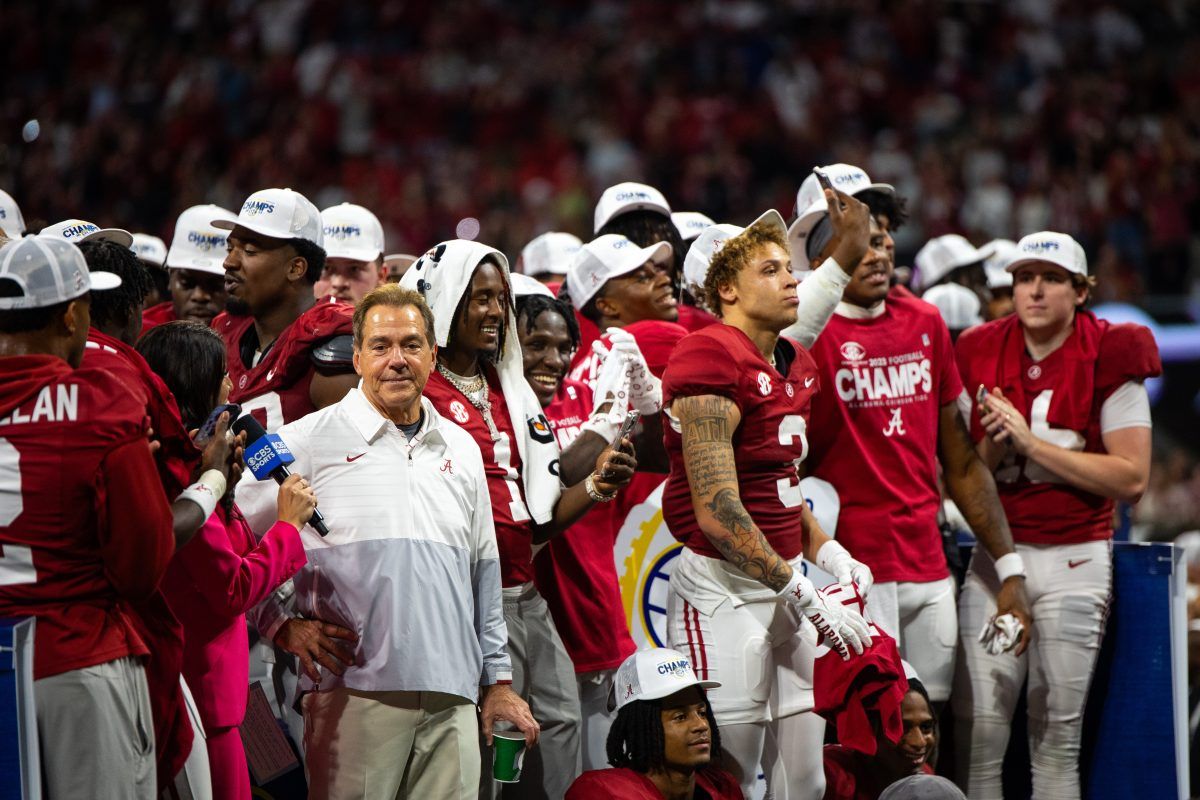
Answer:
<svg viewBox="0 0 1200 800"><path fill-rule="evenodd" d="M246 612L307 563L300 531L277 522L262 541L234 506L217 507L175 553L162 591L184 624L184 678L205 728L227 728L246 715L250 681Z"/></svg>

